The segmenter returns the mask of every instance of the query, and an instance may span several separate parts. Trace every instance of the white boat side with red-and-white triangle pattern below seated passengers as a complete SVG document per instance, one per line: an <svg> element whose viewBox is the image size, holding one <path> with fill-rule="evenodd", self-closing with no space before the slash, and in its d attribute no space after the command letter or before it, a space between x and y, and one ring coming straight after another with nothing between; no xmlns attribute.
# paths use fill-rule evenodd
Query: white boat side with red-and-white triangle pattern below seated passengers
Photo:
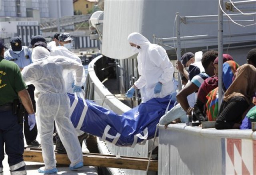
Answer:
<svg viewBox="0 0 256 175"><path fill-rule="evenodd" d="M252 130L202 129L186 124L159 128L158 174L255 174Z"/></svg>

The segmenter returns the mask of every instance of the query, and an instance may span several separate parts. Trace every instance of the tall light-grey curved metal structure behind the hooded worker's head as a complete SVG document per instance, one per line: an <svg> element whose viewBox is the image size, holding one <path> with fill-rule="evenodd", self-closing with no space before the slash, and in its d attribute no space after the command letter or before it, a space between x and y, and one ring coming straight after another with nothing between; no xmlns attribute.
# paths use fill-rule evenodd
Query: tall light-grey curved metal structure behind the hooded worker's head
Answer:
<svg viewBox="0 0 256 175"><path fill-rule="evenodd" d="M144 0L104 1L103 55L115 59L132 56L127 37L142 31L143 13Z"/></svg>

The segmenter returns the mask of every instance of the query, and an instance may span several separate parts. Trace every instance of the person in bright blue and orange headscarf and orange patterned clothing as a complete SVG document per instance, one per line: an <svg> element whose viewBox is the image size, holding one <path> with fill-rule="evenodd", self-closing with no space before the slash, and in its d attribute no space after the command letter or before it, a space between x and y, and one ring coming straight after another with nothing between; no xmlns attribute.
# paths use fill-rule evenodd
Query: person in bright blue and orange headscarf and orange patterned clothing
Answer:
<svg viewBox="0 0 256 175"><path fill-rule="evenodd" d="M232 79L239 65L235 61L227 61L222 69L222 91L226 92L232 83ZM224 94L224 93L223 93ZM223 96L221 97L223 98ZM206 96L206 116L208 121L215 121L218 117L218 87L209 92Z"/></svg>

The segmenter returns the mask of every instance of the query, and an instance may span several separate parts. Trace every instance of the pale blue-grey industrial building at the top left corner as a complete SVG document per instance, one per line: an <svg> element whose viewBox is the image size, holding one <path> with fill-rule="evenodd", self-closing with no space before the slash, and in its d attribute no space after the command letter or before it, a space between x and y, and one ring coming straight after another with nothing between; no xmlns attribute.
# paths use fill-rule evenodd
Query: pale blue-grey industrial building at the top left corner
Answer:
<svg viewBox="0 0 256 175"><path fill-rule="evenodd" d="M59 8L58 8L59 7ZM73 0L1 0L0 21L44 22L63 16L73 16Z"/></svg>

